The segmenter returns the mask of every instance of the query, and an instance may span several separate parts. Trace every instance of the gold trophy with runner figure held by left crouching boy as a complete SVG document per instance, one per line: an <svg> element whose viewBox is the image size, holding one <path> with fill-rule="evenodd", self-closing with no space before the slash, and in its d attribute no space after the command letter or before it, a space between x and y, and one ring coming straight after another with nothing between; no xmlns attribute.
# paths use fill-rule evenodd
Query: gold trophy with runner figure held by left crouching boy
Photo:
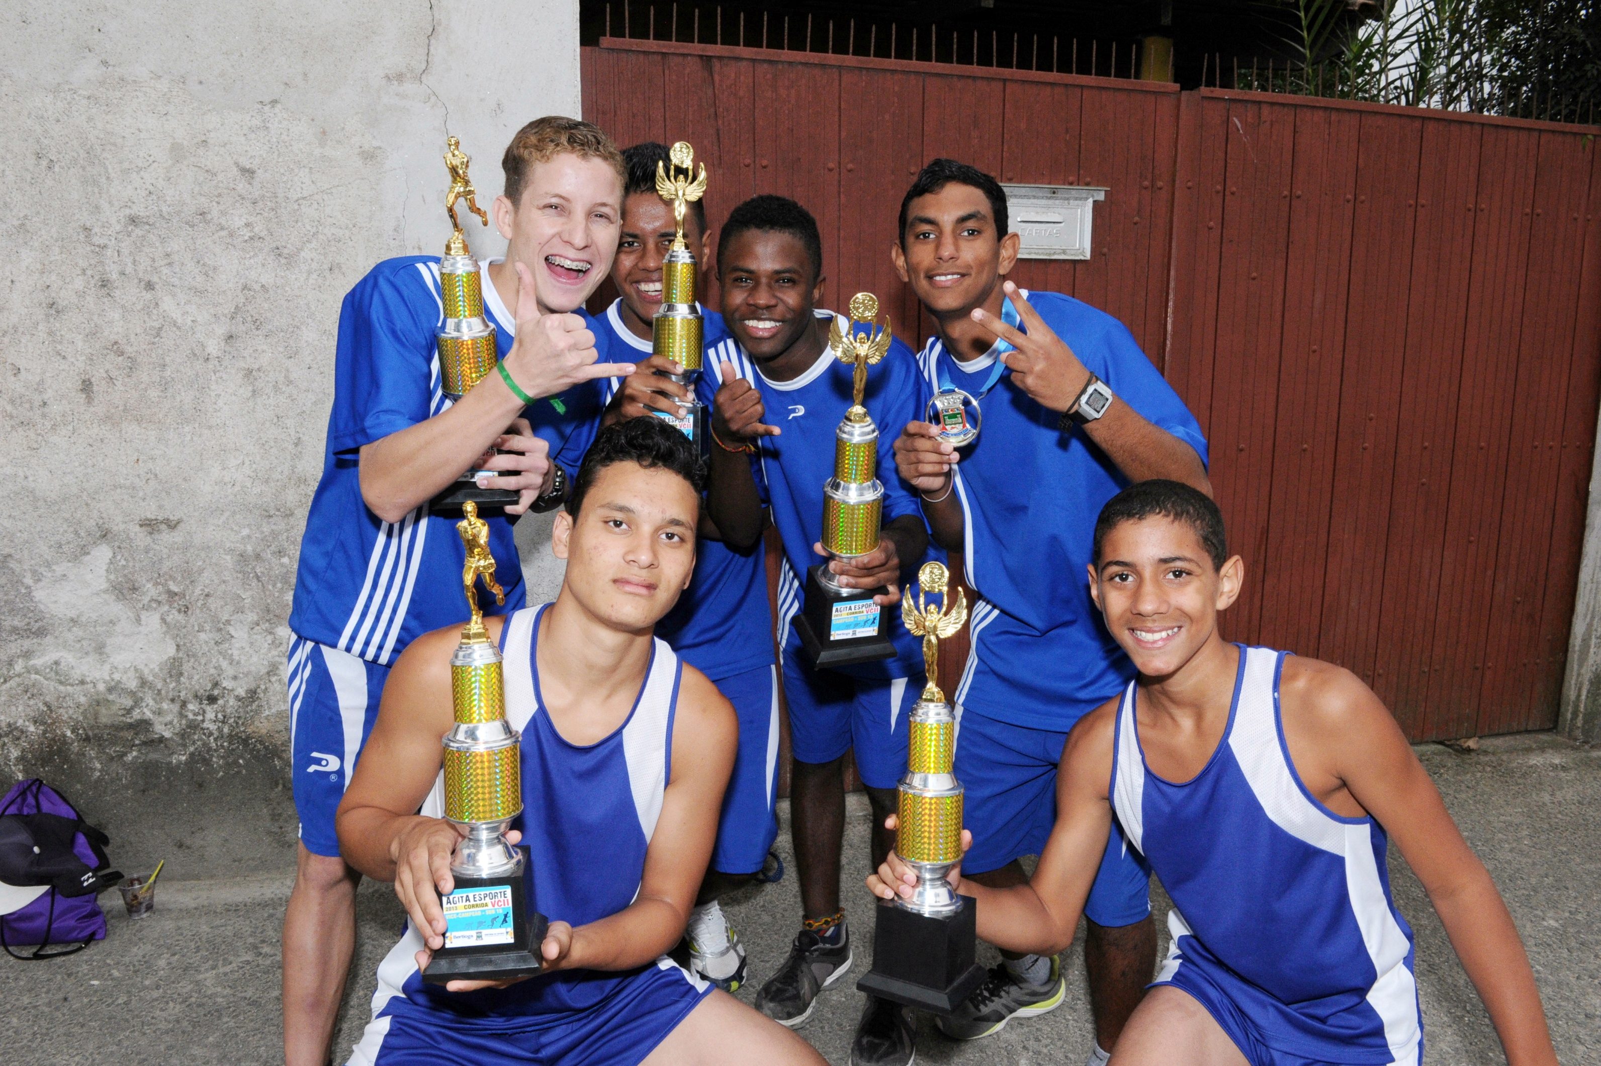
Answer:
<svg viewBox="0 0 1601 1066"><path fill-rule="evenodd" d="M522 813L522 759L517 731L506 720L501 655L484 626L477 581L506 595L495 581L490 527L471 499L456 523L467 559L461 568L472 616L450 656L450 696L456 723L445 735L445 818L466 831L450 863L455 882L440 900L445 946L423 972L423 981L503 981L543 968L540 946L549 922L538 912L533 864L527 847L506 842Z"/></svg>

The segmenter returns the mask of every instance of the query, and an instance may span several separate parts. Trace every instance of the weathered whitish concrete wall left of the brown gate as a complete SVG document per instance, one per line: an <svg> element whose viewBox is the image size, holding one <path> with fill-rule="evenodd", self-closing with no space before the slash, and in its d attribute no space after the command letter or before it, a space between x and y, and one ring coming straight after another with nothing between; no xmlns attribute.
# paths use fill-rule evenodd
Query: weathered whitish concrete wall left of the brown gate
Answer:
<svg viewBox="0 0 1601 1066"><path fill-rule="evenodd" d="M339 299L443 246L447 133L487 203L551 112L580 114L576 0L6 6L6 783L62 781L114 837L158 805L175 847L226 794L293 844L285 618Z"/></svg>

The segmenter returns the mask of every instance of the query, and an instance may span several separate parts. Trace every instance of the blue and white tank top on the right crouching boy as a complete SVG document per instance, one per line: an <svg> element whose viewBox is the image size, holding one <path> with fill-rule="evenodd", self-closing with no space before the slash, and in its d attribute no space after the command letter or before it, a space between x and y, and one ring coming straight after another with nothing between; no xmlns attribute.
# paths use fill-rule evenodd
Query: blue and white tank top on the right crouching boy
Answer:
<svg viewBox="0 0 1601 1066"><path fill-rule="evenodd" d="M1228 727L1190 781L1145 762L1137 685L1117 707L1113 810L1174 909L1158 983L1222 992L1268 1047L1316 1061L1420 1061L1412 930L1386 836L1313 799L1284 741L1284 651L1241 647ZM1217 1013L1217 1012L1214 1012Z"/></svg>

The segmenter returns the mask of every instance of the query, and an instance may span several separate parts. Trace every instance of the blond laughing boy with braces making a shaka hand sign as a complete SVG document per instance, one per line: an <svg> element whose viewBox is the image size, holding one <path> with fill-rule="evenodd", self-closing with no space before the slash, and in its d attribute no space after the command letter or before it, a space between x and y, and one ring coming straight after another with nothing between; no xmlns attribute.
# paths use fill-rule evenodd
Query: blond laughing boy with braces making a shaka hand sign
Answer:
<svg viewBox="0 0 1601 1066"><path fill-rule="evenodd" d="M631 362L596 365L596 338L580 314L616 251L616 147L586 122L549 115L517 131L501 165L506 190L493 214L506 256L479 272L501 373L456 402L440 391L437 256L379 262L339 309L323 471L288 623L301 837L283 919L288 1066L327 1063L355 943L360 876L339 858L335 808L395 658L459 615L456 519L431 514L427 501L467 469L492 471L480 485L519 491L506 515L485 517L516 610L524 587L512 522L560 504L557 471L570 474L581 455L568 439L599 415L594 379L632 373Z"/></svg>

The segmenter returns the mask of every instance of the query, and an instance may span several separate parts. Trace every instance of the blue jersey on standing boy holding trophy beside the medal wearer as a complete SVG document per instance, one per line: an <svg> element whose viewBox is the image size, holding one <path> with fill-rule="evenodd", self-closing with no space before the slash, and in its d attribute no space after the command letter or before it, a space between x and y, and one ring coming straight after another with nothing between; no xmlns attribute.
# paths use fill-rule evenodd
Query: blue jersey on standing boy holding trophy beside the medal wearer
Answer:
<svg viewBox="0 0 1601 1066"><path fill-rule="evenodd" d="M841 328L849 325L833 311L817 314L820 319L837 319ZM757 491L772 507L773 525L784 549L778 575L778 643L784 647L789 623L800 611L805 571L826 562L812 546L823 539L823 485L834 475L834 431L852 405L852 367L825 347L799 378L768 381L732 336L712 349L706 362L738 368L738 376L762 394L767 411L762 421L783 431L778 437L757 439L759 461L752 463L752 474ZM921 399L916 357L900 339L893 339L884 359L868 368L863 397L868 415L879 427L877 474L884 483L884 525L906 514L917 515L922 522L917 496L895 471L895 453L890 448L906 423L922 418ZM903 562L908 563L906 570L916 570L927 559L943 560L945 552L930 541L925 559ZM916 589L914 579L901 592L913 595ZM893 659L858 663L839 667L839 672L873 679L921 672L922 643L898 621L890 626L890 632L898 653Z"/></svg>

